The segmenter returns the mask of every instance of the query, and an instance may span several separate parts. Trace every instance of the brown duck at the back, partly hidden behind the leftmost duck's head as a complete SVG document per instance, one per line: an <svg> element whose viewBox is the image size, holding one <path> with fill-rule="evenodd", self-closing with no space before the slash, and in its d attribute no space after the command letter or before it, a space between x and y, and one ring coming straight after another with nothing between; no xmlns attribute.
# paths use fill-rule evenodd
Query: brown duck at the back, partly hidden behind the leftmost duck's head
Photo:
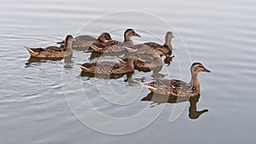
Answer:
<svg viewBox="0 0 256 144"><path fill-rule="evenodd" d="M98 38L91 37L89 35L81 35L79 37L75 37L75 39L76 41L72 43L73 49L87 50L90 48L92 44L107 42L109 40L112 40L112 37L108 32L102 32ZM64 46L65 40L63 40L62 42L58 42L58 44L61 44L61 46Z"/></svg>

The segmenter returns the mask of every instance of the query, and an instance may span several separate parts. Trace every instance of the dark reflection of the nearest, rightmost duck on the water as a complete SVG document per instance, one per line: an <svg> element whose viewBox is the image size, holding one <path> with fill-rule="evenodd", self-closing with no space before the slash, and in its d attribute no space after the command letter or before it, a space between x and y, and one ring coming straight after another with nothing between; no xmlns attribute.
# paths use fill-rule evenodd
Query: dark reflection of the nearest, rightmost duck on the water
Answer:
<svg viewBox="0 0 256 144"><path fill-rule="evenodd" d="M201 114L208 112L208 109L204 109L202 111L197 111L196 103L200 99L200 94L190 97L177 97L177 96L169 96L169 95L160 95L154 94L150 92L147 96L143 97L141 101L153 101L153 103L161 104L161 103L179 103L189 101L189 118L196 119L201 116Z"/></svg>

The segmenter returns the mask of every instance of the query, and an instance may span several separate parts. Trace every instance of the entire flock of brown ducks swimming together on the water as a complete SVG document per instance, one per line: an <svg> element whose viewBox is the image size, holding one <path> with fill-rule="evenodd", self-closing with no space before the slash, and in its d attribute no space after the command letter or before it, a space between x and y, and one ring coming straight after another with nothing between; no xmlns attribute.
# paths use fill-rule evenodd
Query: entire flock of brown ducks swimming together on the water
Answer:
<svg viewBox="0 0 256 144"><path fill-rule="evenodd" d="M82 35L73 38L67 35L65 40L59 42L60 47L49 46L47 48L28 48L31 57L39 59L62 59L70 58L73 49L91 50L99 55L111 55L119 60L86 62L79 64L82 72L88 74L106 75L110 77L125 75L135 69L143 72L153 71L155 75L160 72L163 66L162 56L166 59L172 58L172 32L166 32L165 43L141 43L134 44L131 37L141 37L132 29L124 33L124 42L113 40L108 32L103 32L98 38L89 35ZM119 57L122 55L122 57ZM152 93L159 95L172 95L177 97L191 97L200 95L199 72L211 72L201 63L195 62L190 67L191 81L185 83L177 79L155 78L154 82L142 83Z"/></svg>

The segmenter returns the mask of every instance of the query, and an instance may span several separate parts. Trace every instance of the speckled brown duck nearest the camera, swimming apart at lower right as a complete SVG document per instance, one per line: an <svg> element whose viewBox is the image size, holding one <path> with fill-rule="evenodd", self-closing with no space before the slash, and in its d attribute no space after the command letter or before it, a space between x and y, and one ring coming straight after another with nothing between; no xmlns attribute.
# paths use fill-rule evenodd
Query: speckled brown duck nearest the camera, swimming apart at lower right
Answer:
<svg viewBox="0 0 256 144"><path fill-rule="evenodd" d="M195 62L190 67L191 80L189 84L177 79L156 79L152 83L142 83L151 92L160 95L170 95L179 97L191 97L200 94L200 83L198 81L199 72L211 72L200 62Z"/></svg>

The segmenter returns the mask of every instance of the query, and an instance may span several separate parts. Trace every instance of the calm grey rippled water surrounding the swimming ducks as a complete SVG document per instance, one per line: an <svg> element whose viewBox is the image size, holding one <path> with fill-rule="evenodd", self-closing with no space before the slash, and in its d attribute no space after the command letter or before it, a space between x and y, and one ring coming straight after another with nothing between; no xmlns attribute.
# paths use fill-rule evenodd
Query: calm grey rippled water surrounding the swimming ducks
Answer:
<svg viewBox="0 0 256 144"><path fill-rule="evenodd" d="M2 1L0 143L255 143L255 6L249 0ZM143 36L136 43L162 43L166 31L174 32L175 58L163 67L165 78L188 82L193 61L212 71L200 74L197 103L148 101L138 83L153 81L152 72L135 71L134 83L126 76L81 77L76 64L90 53L29 60L23 48L55 45L67 34L110 32L121 41L126 27ZM189 106L208 112L192 119ZM174 122L173 112L181 112Z"/></svg>

